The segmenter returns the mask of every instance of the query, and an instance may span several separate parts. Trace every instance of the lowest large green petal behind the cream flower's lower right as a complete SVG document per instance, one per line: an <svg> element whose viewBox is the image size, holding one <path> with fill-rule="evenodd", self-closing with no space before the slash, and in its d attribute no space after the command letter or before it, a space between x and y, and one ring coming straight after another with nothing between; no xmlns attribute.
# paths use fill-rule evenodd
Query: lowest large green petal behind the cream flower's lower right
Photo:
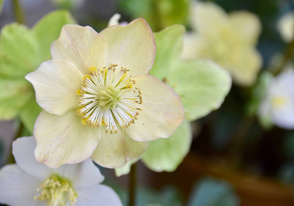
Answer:
<svg viewBox="0 0 294 206"><path fill-rule="evenodd" d="M187 155L192 141L192 129L187 119L173 135L150 141L142 156L143 163L156 172L172 172Z"/></svg>

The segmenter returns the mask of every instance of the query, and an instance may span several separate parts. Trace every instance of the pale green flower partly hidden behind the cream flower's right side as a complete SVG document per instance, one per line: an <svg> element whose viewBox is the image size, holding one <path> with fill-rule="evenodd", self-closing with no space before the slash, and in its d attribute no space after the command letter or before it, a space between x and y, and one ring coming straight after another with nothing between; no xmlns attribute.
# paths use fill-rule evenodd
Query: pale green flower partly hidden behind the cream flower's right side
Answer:
<svg viewBox="0 0 294 206"><path fill-rule="evenodd" d="M154 33L156 58L150 74L179 94L186 114L186 119L169 138L149 142L142 161L157 172L171 172L177 168L190 149L192 132L189 121L218 109L231 87L228 72L212 61L180 60L184 32L183 26L174 25ZM134 162L116 169L116 175L128 173Z"/></svg>

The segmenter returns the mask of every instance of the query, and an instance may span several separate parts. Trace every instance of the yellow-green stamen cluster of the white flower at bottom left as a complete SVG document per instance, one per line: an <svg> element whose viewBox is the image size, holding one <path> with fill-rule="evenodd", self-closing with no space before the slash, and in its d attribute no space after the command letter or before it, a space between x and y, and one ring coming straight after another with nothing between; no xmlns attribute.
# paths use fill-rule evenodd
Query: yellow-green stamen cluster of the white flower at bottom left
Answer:
<svg viewBox="0 0 294 206"><path fill-rule="evenodd" d="M34 200L46 201L46 206L65 206L67 203L75 205L78 196L70 181L59 175L46 178L37 191L40 194L35 196Z"/></svg>

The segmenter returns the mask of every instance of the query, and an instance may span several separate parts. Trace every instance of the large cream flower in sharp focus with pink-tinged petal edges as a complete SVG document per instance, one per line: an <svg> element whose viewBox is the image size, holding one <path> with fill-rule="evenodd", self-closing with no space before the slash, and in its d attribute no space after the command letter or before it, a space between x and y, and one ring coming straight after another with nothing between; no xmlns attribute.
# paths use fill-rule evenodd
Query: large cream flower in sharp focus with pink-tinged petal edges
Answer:
<svg viewBox="0 0 294 206"><path fill-rule="evenodd" d="M52 60L26 75L44 109L36 120L35 156L49 167L91 156L116 168L141 156L148 141L167 138L183 122L181 99L148 75L153 33L142 18L97 33L66 25Z"/></svg>

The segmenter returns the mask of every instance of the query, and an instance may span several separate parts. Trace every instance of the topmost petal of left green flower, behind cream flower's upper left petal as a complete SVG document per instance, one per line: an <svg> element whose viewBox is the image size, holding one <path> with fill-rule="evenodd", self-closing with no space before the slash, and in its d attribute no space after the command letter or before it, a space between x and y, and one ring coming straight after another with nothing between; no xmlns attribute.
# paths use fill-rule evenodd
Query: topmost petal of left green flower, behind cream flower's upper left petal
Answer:
<svg viewBox="0 0 294 206"><path fill-rule="evenodd" d="M40 45L42 61L51 59L50 45L59 37L62 26L76 24L69 11L56 10L43 18L32 28L32 32Z"/></svg>

